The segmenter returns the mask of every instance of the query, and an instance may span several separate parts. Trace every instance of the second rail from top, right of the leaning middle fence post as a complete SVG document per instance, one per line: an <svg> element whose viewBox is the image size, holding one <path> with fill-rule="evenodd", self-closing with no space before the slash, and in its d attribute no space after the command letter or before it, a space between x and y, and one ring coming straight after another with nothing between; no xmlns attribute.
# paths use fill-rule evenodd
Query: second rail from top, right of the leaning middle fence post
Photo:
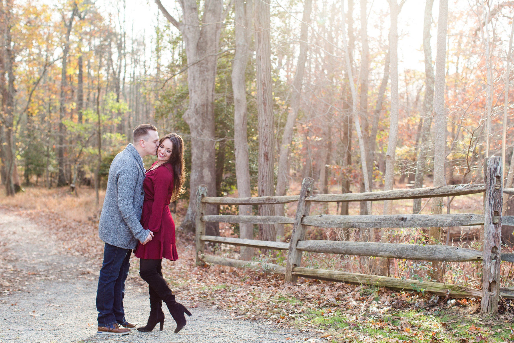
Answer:
<svg viewBox="0 0 514 343"><path fill-rule="evenodd" d="M498 224L499 216L493 216ZM309 215L302 219L303 225L335 228L370 227L448 227L484 225L484 215L474 213L457 214L382 214L382 215Z"/></svg>

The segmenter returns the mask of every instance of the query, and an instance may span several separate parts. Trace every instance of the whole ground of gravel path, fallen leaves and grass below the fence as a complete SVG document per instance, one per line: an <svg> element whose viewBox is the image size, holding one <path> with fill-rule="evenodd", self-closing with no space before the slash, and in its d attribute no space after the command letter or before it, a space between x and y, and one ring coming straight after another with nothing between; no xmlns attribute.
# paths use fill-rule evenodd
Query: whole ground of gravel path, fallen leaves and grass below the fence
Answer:
<svg viewBox="0 0 514 343"><path fill-rule="evenodd" d="M182 232L179 260L163 263L163 274L193 313L188 326L174 335L168 316L163 332L98 337L94 299L103 245L92 201L88 190L75 198L38 188L0 201L0 342L514 341L505 302L497 318L488 318L478 314L478 299L304 279L292 285L279 275L197 266L192 236ZM126 288L127 319L144 323L148 291L135 258Z"/></svg>

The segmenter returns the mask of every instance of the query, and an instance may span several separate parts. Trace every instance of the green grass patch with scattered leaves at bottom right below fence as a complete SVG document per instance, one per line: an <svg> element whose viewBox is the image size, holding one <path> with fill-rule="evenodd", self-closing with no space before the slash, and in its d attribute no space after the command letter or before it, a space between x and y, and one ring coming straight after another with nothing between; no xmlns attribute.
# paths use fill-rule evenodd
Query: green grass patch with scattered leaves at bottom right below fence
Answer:
<svg viewBox="0 0 514 343"><path fill-rule="evenodd" d="M312 310L295 326L319 328L329 341L377 342L505 342L514 334L509 320L471 315L468 311L452 308L442 314L426 311L386 311L383 314L345 313L338 309ZM331 337L332 335L332 337ZM366 337L366 338L365 338ZM364 339L363 339L364 338Z"/></svg>

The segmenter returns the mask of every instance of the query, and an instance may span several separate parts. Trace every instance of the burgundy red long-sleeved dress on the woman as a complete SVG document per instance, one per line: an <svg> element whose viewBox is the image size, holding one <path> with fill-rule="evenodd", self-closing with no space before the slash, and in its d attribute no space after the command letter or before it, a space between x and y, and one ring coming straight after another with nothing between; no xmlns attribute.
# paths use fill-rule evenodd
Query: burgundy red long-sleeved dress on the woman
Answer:
<svg viewBox="0 0 514 343"><path fill-rule="evenodd" d="M153 260L165 258L176 261L178 254L175 245L175 223L169 208L173 191L171 167L162 165L146 172L143 188L144 203L140 223L143 229L153 231L154 237L146 245L138 243L136 257Z"/></svg>

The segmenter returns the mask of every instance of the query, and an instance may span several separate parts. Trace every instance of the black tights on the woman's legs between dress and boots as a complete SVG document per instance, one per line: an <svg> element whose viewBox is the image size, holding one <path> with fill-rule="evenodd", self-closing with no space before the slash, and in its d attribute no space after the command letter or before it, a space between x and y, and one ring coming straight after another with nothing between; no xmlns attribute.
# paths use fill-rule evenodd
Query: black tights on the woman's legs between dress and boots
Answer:
<svg viewBox="0 0 514 343"><path fill-rule="evenodd" d="M161 262L162 260L140 259L139 275L148 283L150 299L167 302L172 300L172 292L162 277Z"/></svg>

